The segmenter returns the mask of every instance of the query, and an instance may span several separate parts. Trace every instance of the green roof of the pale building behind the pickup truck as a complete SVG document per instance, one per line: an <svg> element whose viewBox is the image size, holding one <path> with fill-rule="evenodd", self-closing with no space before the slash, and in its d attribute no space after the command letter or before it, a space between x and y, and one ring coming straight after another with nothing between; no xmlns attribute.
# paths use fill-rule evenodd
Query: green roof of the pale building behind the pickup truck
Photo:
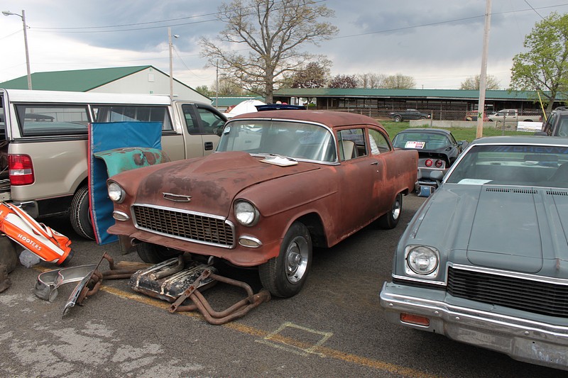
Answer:
<svg viewBox="0 0 568 378"><path fill-rule="evenodd" d="M31 74L32 88L48 91L79 91L85 92L91 89L109 84L123 77L146 70L153 66L95 68L92 70L35 72ZM153 67L154 70L155 67ZM159 70L157 70L159 71ZM0 83L0 88L5 89L28 89L28 77L18 77L7 82Z"/></svg>

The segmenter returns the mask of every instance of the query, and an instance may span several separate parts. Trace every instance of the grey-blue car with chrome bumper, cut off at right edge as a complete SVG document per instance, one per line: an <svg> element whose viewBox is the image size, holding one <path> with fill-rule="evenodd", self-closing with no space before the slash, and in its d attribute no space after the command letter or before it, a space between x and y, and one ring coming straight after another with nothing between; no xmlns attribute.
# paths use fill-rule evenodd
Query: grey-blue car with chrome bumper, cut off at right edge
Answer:
<svg viewBox="0 0 568 378"><path fill-rule="evenodd" d="M567 139L474 140L400 238L386 318L568 369L567 208Z"/></svg>

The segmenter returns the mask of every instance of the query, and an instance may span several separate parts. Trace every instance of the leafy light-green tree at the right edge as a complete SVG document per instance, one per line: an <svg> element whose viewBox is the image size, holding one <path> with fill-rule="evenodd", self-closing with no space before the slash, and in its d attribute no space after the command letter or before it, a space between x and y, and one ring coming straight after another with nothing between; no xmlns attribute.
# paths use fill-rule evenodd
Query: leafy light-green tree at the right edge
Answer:
<svg viewBox="0 0 568 378"><path fill-rule="evenodd" d="M513 57L510 89L539 91L547 99L547 112L568 89L568 14L550 16L535 24L523 47Z"/></svg>

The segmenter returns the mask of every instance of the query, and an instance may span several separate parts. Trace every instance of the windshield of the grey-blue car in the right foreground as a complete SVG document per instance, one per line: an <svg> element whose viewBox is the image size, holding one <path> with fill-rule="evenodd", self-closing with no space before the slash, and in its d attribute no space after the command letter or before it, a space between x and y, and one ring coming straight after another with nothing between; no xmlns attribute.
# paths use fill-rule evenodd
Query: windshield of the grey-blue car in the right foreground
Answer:
<svg viewBox="0 0 568 378"><path fill-rule="evenodd" d="M568 188L568 147L477 145L446 182Z"/></svg>

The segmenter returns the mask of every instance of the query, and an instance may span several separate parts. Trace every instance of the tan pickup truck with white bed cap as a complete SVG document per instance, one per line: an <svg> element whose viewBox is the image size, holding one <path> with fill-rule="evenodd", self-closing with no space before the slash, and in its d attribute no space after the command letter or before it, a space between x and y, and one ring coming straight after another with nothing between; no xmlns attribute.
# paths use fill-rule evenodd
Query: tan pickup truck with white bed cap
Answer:
<svg viewBox="0 0 568 378"><path fill-rule="evenodd" d="M225 116L209 104L169 96L0 89L0 201L34 218L68 214L94 238L87 191L89 122L162 123L171 160L209 155Z"/></svg>

